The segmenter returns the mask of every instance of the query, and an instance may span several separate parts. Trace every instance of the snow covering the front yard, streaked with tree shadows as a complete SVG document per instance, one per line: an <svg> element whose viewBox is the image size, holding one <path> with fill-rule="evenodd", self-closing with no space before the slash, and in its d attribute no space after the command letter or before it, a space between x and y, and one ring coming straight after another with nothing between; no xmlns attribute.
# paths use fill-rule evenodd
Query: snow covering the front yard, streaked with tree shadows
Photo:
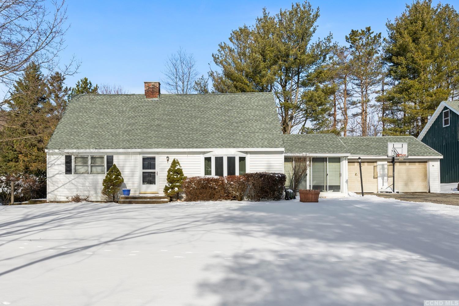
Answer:
<svg viewBox="0 0 459 306"><path fill-rule="evenodd" d="M375 196L0 206L0 304L459 299L459 206Z"/></svg>

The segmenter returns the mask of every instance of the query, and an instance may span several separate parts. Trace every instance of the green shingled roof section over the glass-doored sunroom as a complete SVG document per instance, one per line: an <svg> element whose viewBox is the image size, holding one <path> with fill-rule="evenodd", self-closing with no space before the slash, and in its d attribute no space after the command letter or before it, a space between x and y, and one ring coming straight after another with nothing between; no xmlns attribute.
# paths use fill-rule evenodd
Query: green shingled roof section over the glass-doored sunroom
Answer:
<svg viewBox="0 0 459 306"><path fill-rule="evenodd" d="M350 153L335 134L285 134L283 139L285 153Z"/></svg>

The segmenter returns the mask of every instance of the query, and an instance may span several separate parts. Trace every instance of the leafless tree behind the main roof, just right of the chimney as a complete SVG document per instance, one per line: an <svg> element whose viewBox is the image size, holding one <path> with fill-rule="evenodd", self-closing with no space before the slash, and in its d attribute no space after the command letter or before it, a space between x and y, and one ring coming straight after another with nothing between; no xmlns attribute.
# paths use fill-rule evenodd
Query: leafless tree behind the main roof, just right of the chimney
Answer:
<svg viewBox="0 0 459 306"><path fill-rule="evenodd" d="M186 53L186 50L180 48L168 57L164 65L162 84L168 92L176 94L193 92L196 78L199 75L193 54Z"/></svg>

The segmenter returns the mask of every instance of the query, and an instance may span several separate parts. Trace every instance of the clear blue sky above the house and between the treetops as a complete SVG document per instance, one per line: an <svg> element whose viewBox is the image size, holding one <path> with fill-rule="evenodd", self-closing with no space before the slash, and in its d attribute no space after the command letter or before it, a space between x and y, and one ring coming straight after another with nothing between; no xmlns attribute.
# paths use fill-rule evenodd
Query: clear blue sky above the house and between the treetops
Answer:
<svg viewBox="0 0 459 306"><path fill-rule="evenodd" d="M458 1L450 1L456 8ZM93 83L122 85L131 93L143 93L144 81L163 77L168 55L183 47L193 53L197 68L206 74L212 53L227 41L231 30L251 25L265 6L276 13L291 1L76 1L69 0L67 49L62 61L74 54L81 67L67 78L73 86L79 78ZM385 23L405 9L405 1L318 1L317 36L329 32L345 43L351 29L371 26L386 35Z"/></svg>

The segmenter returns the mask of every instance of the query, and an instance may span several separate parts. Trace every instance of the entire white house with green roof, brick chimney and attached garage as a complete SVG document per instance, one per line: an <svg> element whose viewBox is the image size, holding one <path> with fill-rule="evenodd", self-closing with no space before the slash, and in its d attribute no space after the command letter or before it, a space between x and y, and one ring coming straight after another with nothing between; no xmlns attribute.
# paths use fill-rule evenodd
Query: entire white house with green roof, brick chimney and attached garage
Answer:
<svg viewBox="0 0 459 306"><path fill-rule="evenodd" d="M387 143L393 140L282 135L272 93L161 94L159 82L145 82L141 95L72 98L46 148L47 198L66 201L79 194L103 200L102 180L113 164L131 195L161 195L174 158L190 177L284 172L297 155L311 162L300 188L320 189L323 196L358 191L354 172L361 156L365 191L376 192L387 187ZM430 167L441 158L412 137L395 140L409 143L406 166L396 165L402 178L411 179L413 167L418 171L421 164ZM426 169L422 176L427 185L405 184L399 190L439 189L433 171Z"/></svg>

